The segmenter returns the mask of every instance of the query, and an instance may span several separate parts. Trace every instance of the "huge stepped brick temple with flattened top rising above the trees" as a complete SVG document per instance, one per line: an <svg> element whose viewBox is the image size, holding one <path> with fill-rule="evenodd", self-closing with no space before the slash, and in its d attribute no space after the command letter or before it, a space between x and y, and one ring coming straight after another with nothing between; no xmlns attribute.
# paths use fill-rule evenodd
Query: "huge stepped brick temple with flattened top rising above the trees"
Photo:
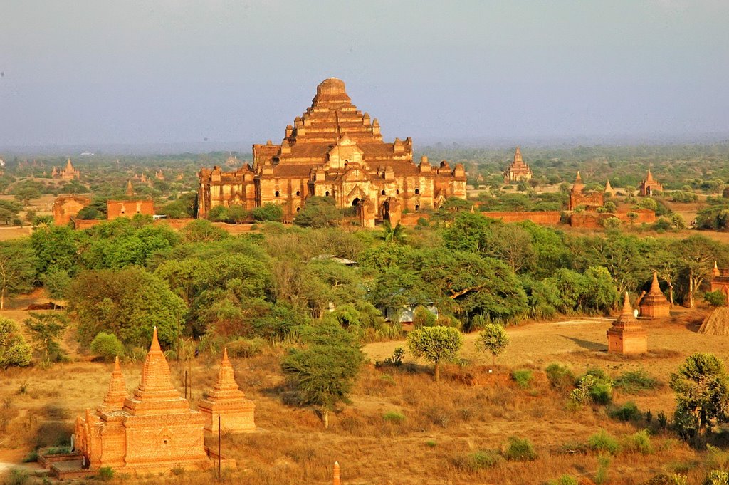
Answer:
<svg viewBox="0 0 729 485"><path fill-rule="evenodd" d="M200 170L198 217L215 206L253 209L277 203L292 220L312 196L357 206L366 226L399 221L403 210L437 209L446 198L466 198L461 163L413 162L413 141L383 141L380 123L351 103L344 82L330 77L316 87L311 106L286 126L281 144L253 145L253 166Z"/></svg>

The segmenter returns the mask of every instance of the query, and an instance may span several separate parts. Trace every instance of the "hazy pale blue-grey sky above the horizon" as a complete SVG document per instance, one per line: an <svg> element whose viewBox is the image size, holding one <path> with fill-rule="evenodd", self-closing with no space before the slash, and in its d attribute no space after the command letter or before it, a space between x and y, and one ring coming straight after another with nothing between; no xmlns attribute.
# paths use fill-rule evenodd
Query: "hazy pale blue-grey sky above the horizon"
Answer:
<svg viewBox="0 0 729 485"><path fill-rule="evenodd" d="M0 148L273 139L340 77L386 139L729 133L728 0L0 0Z"/></svg>

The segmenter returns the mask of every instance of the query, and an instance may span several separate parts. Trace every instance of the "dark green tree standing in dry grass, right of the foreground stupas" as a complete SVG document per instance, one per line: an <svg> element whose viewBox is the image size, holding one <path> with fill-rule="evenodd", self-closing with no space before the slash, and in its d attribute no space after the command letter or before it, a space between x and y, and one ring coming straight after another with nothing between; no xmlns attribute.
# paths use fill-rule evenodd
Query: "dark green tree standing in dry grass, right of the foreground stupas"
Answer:
<svg viewBox="0 0 729 485"><path fill-rule="evenodd" d="M338 325L305 327L303 345L290 349L281 369L295 384L300 403L318 406L324 427L339 403L348 403L364 356L354 337Z"/></svg>

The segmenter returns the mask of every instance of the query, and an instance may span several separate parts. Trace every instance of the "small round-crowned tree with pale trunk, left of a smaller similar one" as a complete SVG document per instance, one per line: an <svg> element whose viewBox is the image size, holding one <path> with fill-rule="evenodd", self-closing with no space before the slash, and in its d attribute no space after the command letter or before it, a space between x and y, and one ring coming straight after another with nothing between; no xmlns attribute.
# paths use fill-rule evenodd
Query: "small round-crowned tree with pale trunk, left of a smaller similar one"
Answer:
<svg viewBox="0 0 729 485"><path fill-rule="evenodd" d="M434 364L435 381L440 381L440 362L456 360L463 346L463 335L453 327L423 327L408 333L408 349L414 357Z"/></svg>

